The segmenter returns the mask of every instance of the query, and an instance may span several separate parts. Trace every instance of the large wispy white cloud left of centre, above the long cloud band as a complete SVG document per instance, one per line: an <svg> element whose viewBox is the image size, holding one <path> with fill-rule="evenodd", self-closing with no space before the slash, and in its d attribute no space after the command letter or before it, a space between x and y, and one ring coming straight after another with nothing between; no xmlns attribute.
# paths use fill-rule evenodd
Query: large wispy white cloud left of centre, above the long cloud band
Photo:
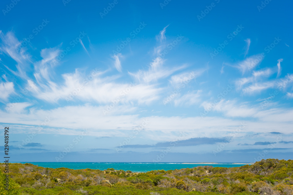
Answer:
<svg viewBox="0 0 293 195"><path fill-rule="evenodd" d="M76 70L73 74L62 75L64 84L57 85L54 82L46 86L37 87L32 81L29 81L28 88L32 88L35 97L49 101L80 99L83 101L94 101L98 103L110 103L112 100L120 97L120 103L150 103L159 99L159 93L162 89L156 85L137 84L133 85L114 82L115 77L102 77L105 72L93 72L92 79L88 80ZM129 91L129 87L132 89Z"/></svg>

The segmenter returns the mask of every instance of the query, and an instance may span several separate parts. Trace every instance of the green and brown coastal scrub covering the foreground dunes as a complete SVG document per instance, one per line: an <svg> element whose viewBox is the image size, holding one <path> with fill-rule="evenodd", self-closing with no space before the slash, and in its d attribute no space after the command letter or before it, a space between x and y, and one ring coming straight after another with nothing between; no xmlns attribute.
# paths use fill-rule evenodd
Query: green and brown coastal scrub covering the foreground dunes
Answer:
<svg viewBox="0 0 293 195"><path fill-rule="evenodd" d="M5 164L0 164L2 195L292 195L293 160L267 159L241 167L198 166L180 170L43 168L9 165L9 191L4 190Z"/></svg>

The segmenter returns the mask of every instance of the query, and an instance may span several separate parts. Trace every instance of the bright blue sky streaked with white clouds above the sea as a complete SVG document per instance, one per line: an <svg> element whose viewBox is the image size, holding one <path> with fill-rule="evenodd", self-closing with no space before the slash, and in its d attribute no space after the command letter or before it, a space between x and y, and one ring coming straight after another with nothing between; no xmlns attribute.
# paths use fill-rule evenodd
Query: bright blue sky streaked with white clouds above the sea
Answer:
<svg viewBox="0 0 293 195"><path fill-rule="evenodd" d="M291 6L1 1L11 160L289 159Z"/></svg>

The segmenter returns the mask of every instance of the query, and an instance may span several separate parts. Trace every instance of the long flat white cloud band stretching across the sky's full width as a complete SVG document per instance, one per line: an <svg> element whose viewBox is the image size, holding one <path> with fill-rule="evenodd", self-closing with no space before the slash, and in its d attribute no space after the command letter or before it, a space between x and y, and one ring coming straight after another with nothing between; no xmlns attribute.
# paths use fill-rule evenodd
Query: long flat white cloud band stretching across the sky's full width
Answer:
<svg viewBox="0 0 293 195"><path fill-rule="evenodd" d="M80 130L87 129L91 136L123 135L126 131L132 132L147 120L148 124L144 127L144 135L156 137L157 140L166 141L166 136L159 134L169 134L169 138L176 137L180 132L187 134L186 139L209 135L214 137L227 131L236 130L241 123L247 125L242 132L270 132L277 131L283 133L292 132L292 114L290 109L270 109L259 111L257 108L250 108L247 104L236 101L221 101L214 108L215 111L223 112L226 117L165 117L149 116L140 117L139 115L127 114L133 111L132 106L117 106L116 110L109 115L103 115L104 106L65 106L50 110L37 108L30 109L27 113L6 113L0 111L1 122L5 121L11 125L19 125L22 133L29 133L32 130L30 125L41 125L47 118L50 122L43 126L41 132L48 134L79 134ZM116 107L114 108L116 109ZM234 119L229 119L233 117ZM241 119L238 119L241 117ZM258 120L246 120L244 118L256 118ZM211 122L212 121L212 122ZM58 131L59 130L59 131ZM16 132L20 133L20 132ZM172 134L173 135L172 135ZM126 133L128 135L129 133ZM178 136L178 135L177 135Z"/></svg>

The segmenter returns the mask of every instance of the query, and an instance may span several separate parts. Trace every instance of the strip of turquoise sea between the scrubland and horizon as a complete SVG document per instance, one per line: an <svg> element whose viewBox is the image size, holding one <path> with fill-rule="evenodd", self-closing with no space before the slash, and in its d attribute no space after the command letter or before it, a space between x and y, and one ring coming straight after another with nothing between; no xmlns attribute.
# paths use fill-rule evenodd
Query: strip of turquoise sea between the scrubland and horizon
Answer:
<svg viewBox="0 0 293 195"><path fill-rule="evenodd" d="M26 162L21 162L26 163ZM183 164L183 163L56 163L56 162L27 162L40 167L48 168L69 168L69 169L99 169L104 170L107 168L114 168L116 170L131 170L132 172L147 172L151 170L174 170L182 168L193 168L196 166L213 166L213 167L241 167L244 164Z"/></svg>

